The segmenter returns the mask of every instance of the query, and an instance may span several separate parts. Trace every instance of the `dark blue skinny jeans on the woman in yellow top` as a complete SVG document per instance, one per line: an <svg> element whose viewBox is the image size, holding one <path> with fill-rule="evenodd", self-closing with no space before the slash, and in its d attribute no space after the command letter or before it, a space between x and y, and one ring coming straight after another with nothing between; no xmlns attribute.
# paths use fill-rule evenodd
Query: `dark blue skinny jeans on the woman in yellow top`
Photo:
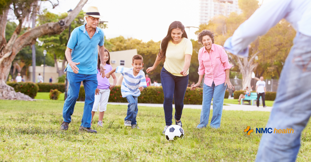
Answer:
<svg viewBox="0 0 311 162"><path fill-rule="evenodd" d="M161 84L164 93L164 114L167 126L172 125L173 99L175 103L175 118L180 120L183 113L183 98L188 86L189 75L179 77L169 73L164 67L161 70Z"/></svg>

